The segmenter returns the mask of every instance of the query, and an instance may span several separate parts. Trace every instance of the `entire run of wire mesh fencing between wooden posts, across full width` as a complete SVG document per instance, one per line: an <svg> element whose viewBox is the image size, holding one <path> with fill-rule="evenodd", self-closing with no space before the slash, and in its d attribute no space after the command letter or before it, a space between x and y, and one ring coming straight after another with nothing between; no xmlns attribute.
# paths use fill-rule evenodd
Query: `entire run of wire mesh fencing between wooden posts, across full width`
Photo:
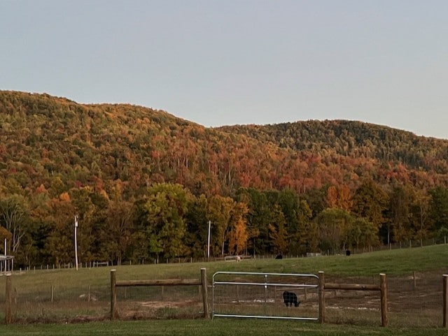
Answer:
<svg viewBox="0 0 448 336"><path fill-rule="evenodd" d="M38 272L36 271L36 276ZM15 323L98 321L110 318L109 282L83 282L80 286L42 282L36 288L20 285L13 275L12 307ZM0 323L5 323L6 277L0 277ZM209 279L210 280L210 279ZM236 279L238 280L238 279ZM336 284L379 284L379 277L331 277ZM387 277L389 326L431 328L442 326L443 286L440 272L412 272ZM209 282L211 286L211 282ZM150 286L117 288L120 319L196 319L204 315L200 286ZM286 307L283 291L292 291L298 307ZM317 291L288 286L235 285L216 288L215 302L228 314L317 316ZM209 307L211 291L209 290ZM360 326L381 325L378 292L325 290L325 322Z"/></svg>

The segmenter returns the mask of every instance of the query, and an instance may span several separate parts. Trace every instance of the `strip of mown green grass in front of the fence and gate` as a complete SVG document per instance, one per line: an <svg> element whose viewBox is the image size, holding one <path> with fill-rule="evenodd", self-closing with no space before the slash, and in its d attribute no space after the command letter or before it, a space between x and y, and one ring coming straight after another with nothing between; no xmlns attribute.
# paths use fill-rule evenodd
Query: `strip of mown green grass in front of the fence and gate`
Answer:
<svg viewBox="0 0 448 336"><path fill-rule="evenodd" d="M319 325L297 321L267 321L254 319L165 320L165 321L114 321L83 324L34 324L26 326L1 326L1 335L18 336L272 336L272 335L377 335L417 336L447 335L442 328L372 328L360 326Z"/></svg>

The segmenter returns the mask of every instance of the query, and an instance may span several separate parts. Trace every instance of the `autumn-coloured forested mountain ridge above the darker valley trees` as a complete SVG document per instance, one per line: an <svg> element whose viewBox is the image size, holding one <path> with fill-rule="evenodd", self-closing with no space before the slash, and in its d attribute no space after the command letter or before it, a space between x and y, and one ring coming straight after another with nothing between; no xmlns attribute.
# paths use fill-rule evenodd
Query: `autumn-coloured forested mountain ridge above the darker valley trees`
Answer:
<svg viewBox="0 0 448 336"><path fill-rule="evenodd" d="M10 166L8 160L13 166L20 161L20 149L36 165L43 163L44 173L60 175L80 166L84 174L69 175L83 185L102 173L103 180L120 179L136 189L151 182L179 182L196 186L195 193L230 194L238 187L303 192L323 184L351 183L354 188L353 173L355 180L386 182L401 166L426 185L445 183L442 175L448 173L448 140L365 122L207 128L139 105L78 104L12 91L0 92L0 117L3 169ZM92 166L99 170L92 172Z"/></svg>

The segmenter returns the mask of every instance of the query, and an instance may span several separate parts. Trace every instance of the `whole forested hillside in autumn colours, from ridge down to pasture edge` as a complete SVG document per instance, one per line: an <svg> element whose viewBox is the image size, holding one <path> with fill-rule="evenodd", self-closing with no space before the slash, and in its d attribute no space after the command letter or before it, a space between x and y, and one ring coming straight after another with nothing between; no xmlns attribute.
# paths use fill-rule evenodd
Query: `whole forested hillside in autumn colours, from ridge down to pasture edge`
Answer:
<svg viewBox="0 0 448 336"><path fill-rule="evenodd" d="M0 238L18 265L333 253L448 228L448 141L309 121L208 129L0 92Z"/></svg>

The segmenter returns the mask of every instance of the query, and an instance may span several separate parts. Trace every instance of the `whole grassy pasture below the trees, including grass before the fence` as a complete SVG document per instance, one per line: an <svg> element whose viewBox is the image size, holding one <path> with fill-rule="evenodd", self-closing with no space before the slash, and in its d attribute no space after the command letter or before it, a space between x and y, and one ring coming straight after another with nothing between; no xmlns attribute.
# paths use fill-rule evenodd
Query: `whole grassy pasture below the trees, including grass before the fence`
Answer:
<svg viewBox="0 0 448 336"><path fill-rule="evenodd" d="M448 245L435 245L351 256L15 272L12 278L16 324L0 328L6 331L4 335L23 335L28 330L32 330L33 335L272 335L282 328L285 335L398 335L402 328L407 330L406 335L446 335L446 330L440 326L442 274L447 272L447 261ZM209 283L217 271L317 274L323 270L325 280L353 284L375 284L379 273L385 272L390 328L379 327L377 293L325 291L328 323L320 326L299 321L200 319L200 291L195 287L121 288L118 293L120 319L128 321L111 322L108 319L112 268L116 269L119 280L199 279L200 268L207 268ZM4 286L5 277L1 276L0 323L4 321L5 294L1 289ZM246 295L251 297L253 293ZM289 312L307 309L313 305L310 296L305 302L300 298L300 307L281 309L290 309ZM274 309L280 309L281 302L276 307ZM80 323L87 321L90 323ZM236 331L237 327L243 331Z"/></svg>

